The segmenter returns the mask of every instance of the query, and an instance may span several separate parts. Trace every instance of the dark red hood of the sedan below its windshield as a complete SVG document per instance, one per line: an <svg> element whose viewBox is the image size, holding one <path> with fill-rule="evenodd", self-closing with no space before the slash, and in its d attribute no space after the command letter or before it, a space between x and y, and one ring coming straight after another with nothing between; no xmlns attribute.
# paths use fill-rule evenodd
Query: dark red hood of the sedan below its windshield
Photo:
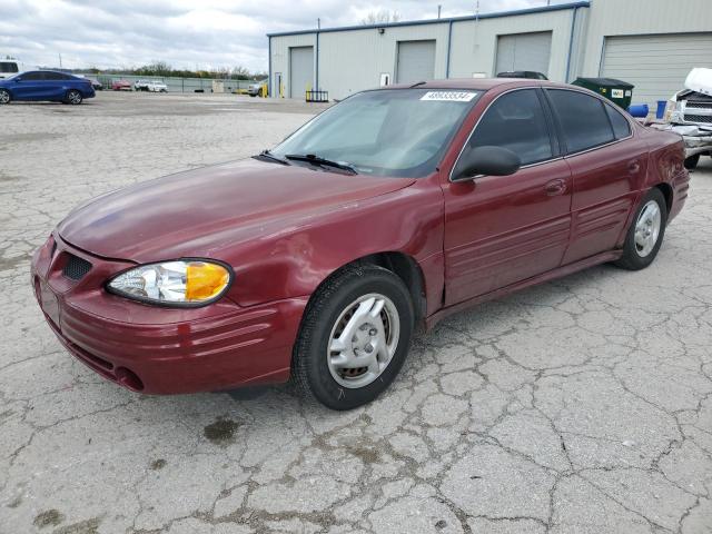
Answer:
<svg viewBox="0 0 712 534"><path fill-rule="evenodd" d="M413 182L247 159L109 192L75 209L58 233L105 258L216 257L228 244L314 224L319 214Z"/></svg>

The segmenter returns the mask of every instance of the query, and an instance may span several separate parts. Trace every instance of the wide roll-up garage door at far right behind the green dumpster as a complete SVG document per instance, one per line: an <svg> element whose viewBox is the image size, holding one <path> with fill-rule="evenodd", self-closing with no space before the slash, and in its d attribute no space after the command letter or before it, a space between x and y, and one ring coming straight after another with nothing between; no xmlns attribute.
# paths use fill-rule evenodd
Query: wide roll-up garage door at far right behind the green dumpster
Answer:
<svg viewBox="0 0 712 534"><path fill-rule="evenodd" d="M693 67L712 68L712 33L606 37L601 76L633 83L633 102L654 105L683 89Z"/></svg>

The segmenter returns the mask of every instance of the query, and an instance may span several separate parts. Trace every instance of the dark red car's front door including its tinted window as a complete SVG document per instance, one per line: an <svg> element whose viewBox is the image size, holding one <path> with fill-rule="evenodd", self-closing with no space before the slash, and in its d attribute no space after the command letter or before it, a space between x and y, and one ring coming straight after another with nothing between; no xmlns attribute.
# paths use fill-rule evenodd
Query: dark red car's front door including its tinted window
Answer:
<svg viewBox="0 0 712 534"><path fill-rule="evenodd" d="M541 90L495 99L463 152L482 146L513 150L522 168L444 186L446 306L558 267L568 243L571 171Z"/></svg>

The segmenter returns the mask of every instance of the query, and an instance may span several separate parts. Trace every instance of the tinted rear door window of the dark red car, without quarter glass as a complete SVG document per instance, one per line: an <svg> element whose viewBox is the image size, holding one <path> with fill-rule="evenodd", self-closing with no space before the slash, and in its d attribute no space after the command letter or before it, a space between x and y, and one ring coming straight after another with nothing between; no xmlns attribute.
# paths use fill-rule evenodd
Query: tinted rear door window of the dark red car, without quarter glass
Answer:
<svg viewBox="0 0 712 534"><path fill-rule="evenodd" d="M595 97L565 89L548 89L561 122L568 154L613 141L613 128L605 105Z"/></svg>

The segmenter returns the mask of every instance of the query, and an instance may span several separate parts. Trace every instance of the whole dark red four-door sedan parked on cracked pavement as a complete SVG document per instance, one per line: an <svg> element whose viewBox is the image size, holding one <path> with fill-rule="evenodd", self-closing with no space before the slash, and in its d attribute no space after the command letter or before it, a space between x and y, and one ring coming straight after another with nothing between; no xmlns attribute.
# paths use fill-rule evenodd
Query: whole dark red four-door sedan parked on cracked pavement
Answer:
<svg viewBox="0 0 712 534"><path fill-rule="evenodd" d="M105 195L36 253L66 347L130 389L293 376L375 398L413 329L614 261L650 265L688 196L682 139L585 89L447 80L365 91L253 159Z"/></svg>

